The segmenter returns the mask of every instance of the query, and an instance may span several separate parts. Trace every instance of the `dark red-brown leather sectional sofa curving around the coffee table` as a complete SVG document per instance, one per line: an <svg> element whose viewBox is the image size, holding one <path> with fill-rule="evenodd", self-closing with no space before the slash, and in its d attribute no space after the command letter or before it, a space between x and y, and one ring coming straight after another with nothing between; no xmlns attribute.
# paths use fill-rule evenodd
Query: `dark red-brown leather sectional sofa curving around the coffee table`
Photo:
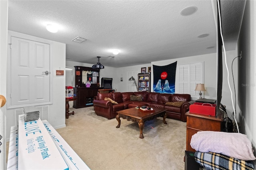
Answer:
<svg viewBox="0 0 256 170"><path fill-rule="evenodd" d="M141 96L142 101L131 101L130 97ZM112 99L118 104L112 104L110 101L104 100L105 97ZM167 105L168 102L181 103L180 106ZM177 119L186 122L185 113L189 110L189 106L193 104L189 94L167 94L154 92L124 92L124 93L98 93L94 97L93 105L96 115L112 119L116 117L117 111L141 106L150 106L167 109L168 118Z"/></svg>

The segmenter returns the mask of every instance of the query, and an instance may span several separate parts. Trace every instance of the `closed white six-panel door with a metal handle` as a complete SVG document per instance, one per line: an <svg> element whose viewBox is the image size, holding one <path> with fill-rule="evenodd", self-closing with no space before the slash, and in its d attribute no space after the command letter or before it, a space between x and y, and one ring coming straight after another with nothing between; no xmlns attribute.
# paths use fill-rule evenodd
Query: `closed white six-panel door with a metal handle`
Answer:
<svg viewBox="0 0 256 170"><path fill-rule="evenodd" d="M49 102L50 45L12 36L10 47L11 105Z"/></svg>

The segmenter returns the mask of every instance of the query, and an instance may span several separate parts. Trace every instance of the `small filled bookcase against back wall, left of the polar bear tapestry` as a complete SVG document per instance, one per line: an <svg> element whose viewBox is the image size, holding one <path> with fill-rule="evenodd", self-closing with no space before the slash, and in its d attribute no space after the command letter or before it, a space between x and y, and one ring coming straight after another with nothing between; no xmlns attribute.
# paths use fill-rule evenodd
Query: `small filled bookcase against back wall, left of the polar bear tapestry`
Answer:
<svg viewBox="0 0 256 170"><path fill-rule="evenodd" d="M138 73L138 91L150 92L150 73Z"/></svg>

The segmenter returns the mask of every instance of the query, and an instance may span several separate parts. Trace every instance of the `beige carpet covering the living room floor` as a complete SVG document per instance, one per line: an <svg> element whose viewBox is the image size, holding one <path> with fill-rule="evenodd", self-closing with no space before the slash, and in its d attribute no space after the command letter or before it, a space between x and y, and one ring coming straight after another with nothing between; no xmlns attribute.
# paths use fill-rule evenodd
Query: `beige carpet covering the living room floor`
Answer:
<svg viewBox="0 0 256 170"><path fill-rule="evenodd" d="M184 170L186 123L163 118L138 123L97 116L93 107L70 108L75 115L57 131L92 170Z"/></svg>

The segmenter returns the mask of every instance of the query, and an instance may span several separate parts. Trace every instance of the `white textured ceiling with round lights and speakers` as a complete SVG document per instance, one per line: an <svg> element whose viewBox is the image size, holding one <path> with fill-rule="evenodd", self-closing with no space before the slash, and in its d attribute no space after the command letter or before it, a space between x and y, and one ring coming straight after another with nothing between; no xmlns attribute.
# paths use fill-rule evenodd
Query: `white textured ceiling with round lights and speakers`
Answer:
<svg viewBox="0 0 256 170"><path fill-rule="evenodd" d="M66 60L124 67L216 52L211 0L9 0L8 30L66 43ZM245 1L222 0L227 50L236 48ZM190 16L180 12L198 10ZM57 33L45 29L57 24ZM209 34L197 38L200 34ZM80 36L83 43L72 42ZM207 49L206 47L214 46Z"/></svg>

